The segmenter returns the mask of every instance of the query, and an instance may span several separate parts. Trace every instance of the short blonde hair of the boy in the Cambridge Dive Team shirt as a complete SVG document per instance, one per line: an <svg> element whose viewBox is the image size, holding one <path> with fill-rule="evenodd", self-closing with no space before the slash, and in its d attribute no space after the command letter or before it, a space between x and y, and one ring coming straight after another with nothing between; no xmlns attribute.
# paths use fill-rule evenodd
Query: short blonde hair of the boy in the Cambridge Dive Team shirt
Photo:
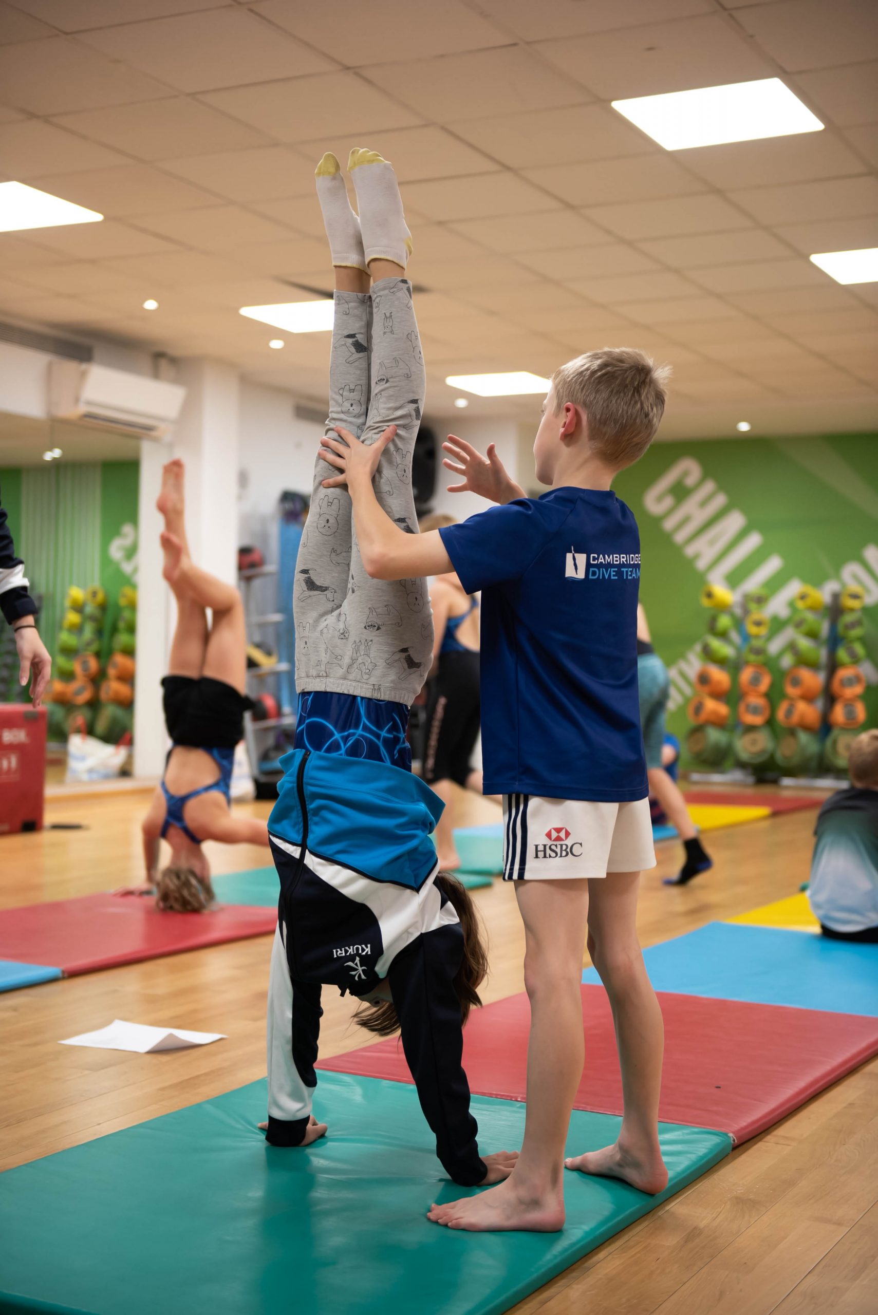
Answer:
<svg viewBox="0 0 878 1315"><path fill-rule="evenodd" d="M589 444L614 469L647 451L665 410L670 366L656 366L635 347L602 347L568 360L552 375L555 410L581 406Z"/></svg>

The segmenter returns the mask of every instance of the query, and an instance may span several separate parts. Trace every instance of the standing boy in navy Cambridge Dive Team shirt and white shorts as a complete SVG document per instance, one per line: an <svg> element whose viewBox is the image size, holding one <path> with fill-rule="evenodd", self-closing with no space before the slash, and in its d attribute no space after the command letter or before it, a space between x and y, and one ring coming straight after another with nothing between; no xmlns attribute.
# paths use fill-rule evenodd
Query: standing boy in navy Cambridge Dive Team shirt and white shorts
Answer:
<svg viewBox="0 0 878 1315"><path fill-rule="evenodd" d="M655 867L637 702L640 542L612 493L615 473L652 442L666 371L628 348L588 352L555 372L524 497L493 446L488 459L446 444L472 489L503 504L463 525L402 534L372 489L382 435L364 447L327 438L344 473L363 565L382 580L456 571L482 590L485 793L503 796L503 877L515 882L531 1001L524 1144L510 1178L434 1206L468 1230L556 1231L564 1224L564 1145L584 1063L582 947L616 1026L624 1115L618 1141L566 1161L643 1191L668 1182L658 1148L664 1032L635 915L640 872ZM392 435L390 435L392 437ZM606 880L605 880L606 878Z"/></svg>

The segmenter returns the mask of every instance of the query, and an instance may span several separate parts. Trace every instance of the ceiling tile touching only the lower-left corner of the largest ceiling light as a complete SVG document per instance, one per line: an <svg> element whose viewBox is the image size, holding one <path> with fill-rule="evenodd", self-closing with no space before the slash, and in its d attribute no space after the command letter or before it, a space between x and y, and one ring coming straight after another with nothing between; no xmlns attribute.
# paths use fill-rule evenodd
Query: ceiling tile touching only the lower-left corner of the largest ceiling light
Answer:
<svg viewBox="0 0 878 1315"><path fill-rule="evenodd" d="M522 170L524 178L569 205L601 205L609 201L641 201L661 196L686 196L706 191L670 155L636 155L622 160L590 160L588 164L553 164Z"/></svg>

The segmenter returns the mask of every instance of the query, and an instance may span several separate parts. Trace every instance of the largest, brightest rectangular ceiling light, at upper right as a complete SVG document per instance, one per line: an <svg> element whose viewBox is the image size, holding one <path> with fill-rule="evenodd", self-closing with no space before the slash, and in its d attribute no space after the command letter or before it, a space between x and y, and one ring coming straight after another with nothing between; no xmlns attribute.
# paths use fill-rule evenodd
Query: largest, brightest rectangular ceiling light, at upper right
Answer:
<svg viewBox="0 0 878 1315"><path fill-rule="evenodd" d="M823 128L779 78L635 96L611 104L669 151L816 133Z"/></svg>

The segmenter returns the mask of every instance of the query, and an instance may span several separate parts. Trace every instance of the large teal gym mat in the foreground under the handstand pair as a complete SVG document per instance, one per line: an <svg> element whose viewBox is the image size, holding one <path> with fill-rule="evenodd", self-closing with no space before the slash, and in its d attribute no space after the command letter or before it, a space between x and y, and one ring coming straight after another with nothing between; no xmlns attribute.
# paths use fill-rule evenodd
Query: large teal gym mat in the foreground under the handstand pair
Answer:
<svg viewBox="0 0 878 1315"><path fill-rule="evenodd" d="M480 1144L520 1144L524 1106L473 1097ZM670 1185L647 1197L565 1174L560 1233L450 1232L413 1086L321 1073L330 1126L268 1147L266 1082L0 1176L0 1311L55 1315L499 1315L729 1153L728 1134L661 1124ZM619 1119L573 1111L568 1153Z"/></svg>

